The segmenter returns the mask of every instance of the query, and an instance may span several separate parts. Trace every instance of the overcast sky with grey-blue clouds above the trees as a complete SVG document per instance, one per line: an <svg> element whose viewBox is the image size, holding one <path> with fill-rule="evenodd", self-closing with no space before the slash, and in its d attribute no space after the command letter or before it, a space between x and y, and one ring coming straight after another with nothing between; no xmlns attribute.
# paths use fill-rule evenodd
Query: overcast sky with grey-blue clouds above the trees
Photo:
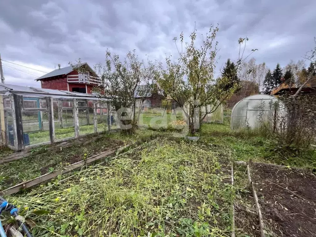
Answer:
<svg viewBox="0 0 316 237"><path fill-rule="evenodd" d="M257 63L271 69L297 61L313 47L314 0L0 0L0 53L3 60L50 72L77 58L90 66L104 62L105 51L163 61L177 56L173 37L219 24L221 56L238 57L238 39L247 36ZM40 87L45 73L3 62L5 81Z"/></svg>

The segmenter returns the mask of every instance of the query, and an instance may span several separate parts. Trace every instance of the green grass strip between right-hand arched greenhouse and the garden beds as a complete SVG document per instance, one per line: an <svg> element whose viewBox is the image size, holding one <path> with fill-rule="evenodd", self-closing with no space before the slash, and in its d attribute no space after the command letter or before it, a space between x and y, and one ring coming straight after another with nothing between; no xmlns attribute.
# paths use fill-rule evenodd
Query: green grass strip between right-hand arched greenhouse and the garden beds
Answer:
<svg viewBox="0 0 316 237"><path fill-rule="evenodd" d="M262 135L261 135L262 134ZM214 150L222 155L229 155L235 160L274 163L291 167L316 168L316 151L310 149L305 153L292 153L277 149L273 137L264 136L257 130L230 130L228 119L224 124L203 124L200 142L214 144Z"/></svg>

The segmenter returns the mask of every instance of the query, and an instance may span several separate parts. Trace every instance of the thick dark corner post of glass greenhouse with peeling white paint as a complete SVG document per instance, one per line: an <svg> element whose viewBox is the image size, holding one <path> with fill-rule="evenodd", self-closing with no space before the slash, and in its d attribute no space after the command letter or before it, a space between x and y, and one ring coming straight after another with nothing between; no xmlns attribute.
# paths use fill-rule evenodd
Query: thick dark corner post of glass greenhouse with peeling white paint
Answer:
<svg viewBox="0 0 316 237"><path fill-rule="evenodd" d="M13 118L14 147L16 150L24 148L23 125L22 125L23 96L11 95L11 110Z"/></svg>

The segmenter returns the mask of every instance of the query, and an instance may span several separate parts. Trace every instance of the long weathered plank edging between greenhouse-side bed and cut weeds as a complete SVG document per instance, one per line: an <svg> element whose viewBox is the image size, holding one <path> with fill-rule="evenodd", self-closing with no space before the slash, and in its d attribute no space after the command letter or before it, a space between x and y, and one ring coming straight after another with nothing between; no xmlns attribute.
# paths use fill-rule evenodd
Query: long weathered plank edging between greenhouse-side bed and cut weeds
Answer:
<svg viewBox="0 0 316 237"><path fill-rule="evenodd" d="M52 173L43 174L43 175L41 175L41 176L39 176L39 177L37 177L35 179L28 180L26 182L23 182L23 183L20 183L18 185L15 185L13 187L10 187L8 189L5 189L5 190L1 191L0 193L2 195L10 195L10 194L16 193L16 192L18 192L18 191L20 191L22 189L30 188L32 186L38 185L38 184L43 183L43 182L45 182L47 180L55 178L55 177L57 177L60 174L68 173L68 172L70 172L70 171L72 171L72 170L74 170L76 168L82 167L82 166L84 166L86 164L89 164L89 163L91 163L93 161L99 160L99 159L101 159L101 158L103 158L105 156L115 154L115 152L118 149L119 149L119 147L113 148L113 149L105 151L105 152L102 152L102 153L100 153L98 155L91 156L87 160L78 161L78 162L76 162L74 164L71 164L71 165L65 167L64 169L59 169L59 170L57 170L55 172L52 172Z"/></svg>

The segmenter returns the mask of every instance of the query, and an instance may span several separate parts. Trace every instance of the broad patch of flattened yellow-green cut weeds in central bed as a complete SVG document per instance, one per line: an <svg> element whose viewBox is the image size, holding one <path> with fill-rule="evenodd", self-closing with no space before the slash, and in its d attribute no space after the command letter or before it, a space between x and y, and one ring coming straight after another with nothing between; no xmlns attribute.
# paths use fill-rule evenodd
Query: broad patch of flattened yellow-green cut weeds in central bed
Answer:
<svg viewBox="0 0 316 237"><path fill-rule="evenodd" d="M36 222L34 236L230 236L223 171L211 151L164 139L7 198Z"/></svg>

